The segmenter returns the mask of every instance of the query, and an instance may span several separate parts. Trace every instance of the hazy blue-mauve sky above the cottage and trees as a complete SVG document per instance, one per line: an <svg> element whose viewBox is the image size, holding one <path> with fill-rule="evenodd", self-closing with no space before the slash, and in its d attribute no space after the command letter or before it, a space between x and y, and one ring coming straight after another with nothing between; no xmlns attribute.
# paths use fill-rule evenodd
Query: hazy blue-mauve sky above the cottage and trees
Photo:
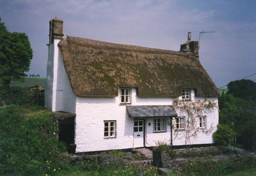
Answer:
<svg viewBox="0 0 256 176"><path fill-rule="evenodd" d="M179 51L200 39L199 59L217 87L256 73L256 1L253 0L0 0L10 32L29 36L27 74L46 77L49 21L64 21L68 36ZM256 75L248 78L256 82Z"/></svg>

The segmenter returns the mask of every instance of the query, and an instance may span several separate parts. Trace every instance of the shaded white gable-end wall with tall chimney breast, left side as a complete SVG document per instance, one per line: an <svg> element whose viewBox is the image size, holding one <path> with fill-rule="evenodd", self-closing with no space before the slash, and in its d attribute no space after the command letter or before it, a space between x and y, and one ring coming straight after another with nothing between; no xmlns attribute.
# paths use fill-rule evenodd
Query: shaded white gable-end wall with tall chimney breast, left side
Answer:
<svg viewBox="0 0 256 176"><path fill-rule="evenodd" d="M45 107L52 111L75 113L76 96L63 65L59 41L60 39L54 39L49 45Z"/></svg>

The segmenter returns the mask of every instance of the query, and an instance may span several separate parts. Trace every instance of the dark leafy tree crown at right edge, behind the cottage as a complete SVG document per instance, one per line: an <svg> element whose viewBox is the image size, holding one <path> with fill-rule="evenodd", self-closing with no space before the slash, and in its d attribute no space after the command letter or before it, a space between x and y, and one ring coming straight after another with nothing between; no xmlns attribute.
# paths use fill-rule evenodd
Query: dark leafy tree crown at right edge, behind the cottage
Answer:
<svg viewBox="0 0 256 176"><path fill-rule="evenodd" d="M228 93L234 97L256 101L256 83L251 80L231 81L227 85Z"/></svg>

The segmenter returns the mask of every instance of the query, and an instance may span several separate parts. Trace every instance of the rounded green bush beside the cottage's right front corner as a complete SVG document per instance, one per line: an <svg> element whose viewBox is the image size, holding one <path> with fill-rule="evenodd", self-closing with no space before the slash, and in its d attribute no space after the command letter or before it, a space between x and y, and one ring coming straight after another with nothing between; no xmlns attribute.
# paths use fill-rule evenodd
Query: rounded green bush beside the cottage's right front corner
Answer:
<svg viewBox="0 0 256 176"><path fill-rule="evenodd" d="M219 145L232 145L232 141L234 138L234 131L230 129L230 127L226 124L218 124L218 130L214 132L212 137L214 141L217 142Z"/></svg>

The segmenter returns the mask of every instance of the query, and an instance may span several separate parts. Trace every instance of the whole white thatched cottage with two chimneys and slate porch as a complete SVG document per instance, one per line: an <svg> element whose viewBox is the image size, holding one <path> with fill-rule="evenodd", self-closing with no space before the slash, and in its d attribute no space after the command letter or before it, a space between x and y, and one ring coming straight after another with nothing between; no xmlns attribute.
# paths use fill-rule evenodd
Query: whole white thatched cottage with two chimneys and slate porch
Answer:
<svg viewBox="0 0 256 176"><path fill-rule="evenodd" d="M45 106L59 116L59 138L76 145L75 152L184 145L174 137L186 131L186 114L173 100L218 103L218 91L198 59L198 42L181 51L115 44L70 37L63 21L50 21ZM66 114L66 116L65 116ZM212 143L218 109L205 113L191 144ZM175 129L173 127L176 127ZM68 139L65 139L68 138Z"/></svg>

